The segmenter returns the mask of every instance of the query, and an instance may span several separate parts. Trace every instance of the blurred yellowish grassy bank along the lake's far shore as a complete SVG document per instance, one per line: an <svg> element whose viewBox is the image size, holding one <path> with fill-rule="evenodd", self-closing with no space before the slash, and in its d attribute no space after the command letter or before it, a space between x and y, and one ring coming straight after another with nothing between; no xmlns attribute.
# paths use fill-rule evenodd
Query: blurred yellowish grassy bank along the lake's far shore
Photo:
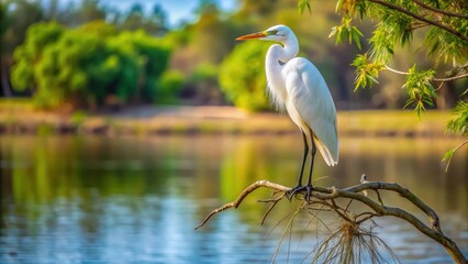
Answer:
<svg viewBox="0 0 468 264"><path fill-rule="evenodd" d="M339 111L338 133L355 136L446 136L447 111ZM138 107L113 113L47 112L27 100L0 100L1 133L282 134L298 129L286 114L232 107Z"/></svg>

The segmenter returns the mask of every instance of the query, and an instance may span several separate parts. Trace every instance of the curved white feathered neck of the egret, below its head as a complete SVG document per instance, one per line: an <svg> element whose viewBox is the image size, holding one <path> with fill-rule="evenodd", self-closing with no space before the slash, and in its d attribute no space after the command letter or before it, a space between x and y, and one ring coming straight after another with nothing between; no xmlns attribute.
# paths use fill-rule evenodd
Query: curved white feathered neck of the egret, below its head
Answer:
<svg viewBox="0 0 468 264"><path fill-rule="evenodd" d="M283 109L288 94L282 79L281 70L285 64L299 53L298 38L291 34L283 46L278 44L271 45L267 52L265 69L267 74L268 87L272 105L278 109Z"/></svg>

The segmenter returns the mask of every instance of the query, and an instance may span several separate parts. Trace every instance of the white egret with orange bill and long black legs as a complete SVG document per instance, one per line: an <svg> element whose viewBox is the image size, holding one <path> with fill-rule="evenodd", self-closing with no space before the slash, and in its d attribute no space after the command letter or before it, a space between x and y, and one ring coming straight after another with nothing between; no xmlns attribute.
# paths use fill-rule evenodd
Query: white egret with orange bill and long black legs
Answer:
<svg viewBox="0 0 468 264"><path fill-rule="evenodd" d="M288 195L291 198L305 190L305 198L311 198L313 190L312 170L316 148L325 163L334 166L338 163L338 136L336 133L336 109L323 76L316 67L303 57L296 57L299 43L294 33L286 25L275 25L266 31L243 35L237 41L263 40L274 44L266 56L266 75L268 94L278 110L286 110L299 127L304 142L301 170L298 185ZM304 164L312 144L309 179L302 186Z"/></svg>

